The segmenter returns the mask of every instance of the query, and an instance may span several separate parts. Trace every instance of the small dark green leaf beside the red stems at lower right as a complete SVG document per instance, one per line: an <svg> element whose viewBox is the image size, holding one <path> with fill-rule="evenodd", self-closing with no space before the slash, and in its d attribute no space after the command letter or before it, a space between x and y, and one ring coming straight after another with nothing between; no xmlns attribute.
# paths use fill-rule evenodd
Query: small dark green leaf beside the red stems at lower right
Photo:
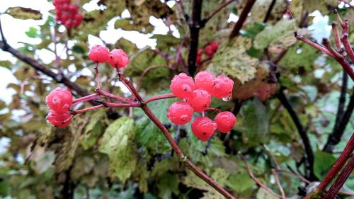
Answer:
<svg viewBox="0 0 354 199"><path fill-rule="evenodd" d="M319 179L324 178L334 162L336 162L336 158L332 154L317 149L314 154L314 174L316 177Z"/></svg>

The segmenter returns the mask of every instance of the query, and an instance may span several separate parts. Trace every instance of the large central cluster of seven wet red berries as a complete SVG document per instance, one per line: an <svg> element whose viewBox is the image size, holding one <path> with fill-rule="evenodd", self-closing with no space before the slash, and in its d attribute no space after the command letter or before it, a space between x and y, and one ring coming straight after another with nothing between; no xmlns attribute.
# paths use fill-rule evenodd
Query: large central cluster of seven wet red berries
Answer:
<svg viewBox="0 0 354 199"><path fill-rule="evenodd" d="M208 71L195 75L195 79L185 73L173 77L170 85L172 93L183 101L172 103L167 117L176 125L185 125L192 120L193 112L202 112L210 106L211 97L231 98L234 81L227 76L217 76ZM198 117L191 124L193 134L202 141L207 141L218 129L229 132L234 127L236 118L229 111L220 112L215 120Z"/></svg>

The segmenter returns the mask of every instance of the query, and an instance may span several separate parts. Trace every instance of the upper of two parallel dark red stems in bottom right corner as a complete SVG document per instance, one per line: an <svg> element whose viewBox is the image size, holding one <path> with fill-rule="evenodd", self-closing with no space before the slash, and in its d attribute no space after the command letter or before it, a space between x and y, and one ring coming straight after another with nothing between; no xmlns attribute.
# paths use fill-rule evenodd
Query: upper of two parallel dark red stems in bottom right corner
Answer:
<svg viewBox="0 0 354 199"><path fill-rule="evenodd" d="M329 183L333 180L333 178L336 177L338 172L341 170L344 164L346 164L346 161L350 158L351 154L353 153L354 149L354 133L350 137L349 142L346 144L346 147L343 150L343 153L337 161L333 164L331 170L329 170L329 173L324 177L323 181L319 184L317 187L317 192L319 193L324 193L326 191L327 186L329 186Z"/></svg>

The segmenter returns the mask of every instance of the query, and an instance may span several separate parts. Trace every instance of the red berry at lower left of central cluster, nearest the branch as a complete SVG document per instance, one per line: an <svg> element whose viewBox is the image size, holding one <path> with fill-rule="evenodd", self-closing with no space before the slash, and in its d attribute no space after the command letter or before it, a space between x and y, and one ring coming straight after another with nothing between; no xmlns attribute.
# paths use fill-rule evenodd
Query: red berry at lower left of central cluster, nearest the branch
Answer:
<svg viewBox="0 0 354 199"><path fill-rule="evenodd" d="M172 103L169 107L167 117L176 125L185 125L192 120L193 108L184 101Z"/></svg>

